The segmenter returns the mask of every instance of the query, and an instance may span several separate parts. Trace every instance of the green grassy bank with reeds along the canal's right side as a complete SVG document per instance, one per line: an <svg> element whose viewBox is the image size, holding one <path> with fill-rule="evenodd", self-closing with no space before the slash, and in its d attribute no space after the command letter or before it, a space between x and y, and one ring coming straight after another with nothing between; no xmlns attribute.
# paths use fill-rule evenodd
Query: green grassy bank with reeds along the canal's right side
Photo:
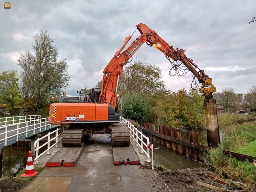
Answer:
<svg viewBox="0 0 256 192"><path fill-rule="evenodd" d="M238 122L238 121L236 121ZM245 155L256 155L256 121L231 124L223 128L225 135L219 148L208 151L208 164L225 179L245 183L255 187L256 168L250 162L241 162L223 154L223 150L235 151Z"/></svg>

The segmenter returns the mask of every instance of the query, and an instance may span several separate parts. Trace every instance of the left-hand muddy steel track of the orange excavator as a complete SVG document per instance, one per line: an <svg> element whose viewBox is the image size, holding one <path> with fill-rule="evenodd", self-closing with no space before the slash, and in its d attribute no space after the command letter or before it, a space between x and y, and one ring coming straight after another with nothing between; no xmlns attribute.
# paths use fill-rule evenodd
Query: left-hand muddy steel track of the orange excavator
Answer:
<svg viewBox="0 0 256 192"><path fill-rule="evenodd" d="M62 146L81 147L83 145L82 137L85 133L84 129L67 128L62 133Z"/></svg>

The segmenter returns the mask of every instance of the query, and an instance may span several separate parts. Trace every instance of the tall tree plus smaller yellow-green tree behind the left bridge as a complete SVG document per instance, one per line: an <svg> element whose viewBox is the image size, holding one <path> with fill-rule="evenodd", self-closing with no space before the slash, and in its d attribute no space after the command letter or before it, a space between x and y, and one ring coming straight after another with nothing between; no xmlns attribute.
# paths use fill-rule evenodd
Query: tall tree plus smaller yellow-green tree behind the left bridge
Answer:
<svg viewBox="0 0 256 192"><path fill-rule="evenodd" d="M51 100L60 97L69 86L67 58L58 59L58 47L49 31L41 28L33 36L32 51L18 59L21 68L0 74L0 103L6 108L23 108L27 114L48 116Z"/></svg>

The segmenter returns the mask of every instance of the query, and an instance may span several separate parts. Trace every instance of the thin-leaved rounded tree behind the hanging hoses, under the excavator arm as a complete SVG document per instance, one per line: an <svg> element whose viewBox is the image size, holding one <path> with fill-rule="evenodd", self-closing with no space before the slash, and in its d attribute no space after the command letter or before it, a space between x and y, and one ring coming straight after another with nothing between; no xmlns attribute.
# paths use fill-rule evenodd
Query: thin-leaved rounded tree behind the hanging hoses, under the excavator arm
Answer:
<svg viewBox="0 0 256 192"><path fill-rule="evenodd" d="M155 65L147 65L145 60L134 58L131 65L124 68L119 81L119 95L127 93L153 94L164 87L161 69Z"/></svg>

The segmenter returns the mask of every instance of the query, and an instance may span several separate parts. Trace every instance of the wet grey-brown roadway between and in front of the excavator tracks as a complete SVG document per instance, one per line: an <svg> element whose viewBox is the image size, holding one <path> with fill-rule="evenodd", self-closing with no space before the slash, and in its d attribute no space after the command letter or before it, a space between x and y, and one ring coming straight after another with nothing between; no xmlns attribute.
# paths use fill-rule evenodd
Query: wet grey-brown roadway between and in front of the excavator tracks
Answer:
<svg viewBox="0 0 256 192"><path fill-rule="evenodd" d="M139 165L114 165L110 138L108 135L94 135L74 167L45 167L38 178L73 177L69 192L157 191L149 176L151 172Z"/></svg>

